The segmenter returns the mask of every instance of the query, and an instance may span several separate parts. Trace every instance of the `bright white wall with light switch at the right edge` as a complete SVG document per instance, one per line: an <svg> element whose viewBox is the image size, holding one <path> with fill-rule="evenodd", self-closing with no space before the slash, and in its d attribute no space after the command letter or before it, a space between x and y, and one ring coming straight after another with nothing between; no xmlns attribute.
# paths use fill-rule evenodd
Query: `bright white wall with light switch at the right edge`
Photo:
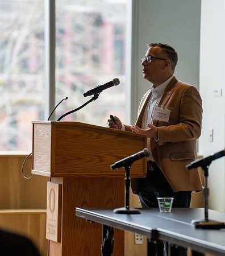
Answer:
<svg viewBox="0 0 225 256"><path fill-rule="evenodd" d="M210 155L224 149L225 92L225 1L203 0L201 7L200 93L203 98L203 126L199 153ZM221 96L216 96L222 90ZM213 128L213 142L209 129ZM209 208L225 211L225 158L216 159L209 167ZM210 218L210 216L209 216Z"/></svg>

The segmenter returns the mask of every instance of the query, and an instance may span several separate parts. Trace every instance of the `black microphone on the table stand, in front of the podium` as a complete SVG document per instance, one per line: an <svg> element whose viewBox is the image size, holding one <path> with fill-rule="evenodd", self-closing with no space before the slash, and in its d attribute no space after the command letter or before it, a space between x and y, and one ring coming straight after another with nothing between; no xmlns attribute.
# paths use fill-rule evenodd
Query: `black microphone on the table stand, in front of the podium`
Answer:
<svg viewBox="0 0 225 256"><path fill-rule="evenodd" d="M144 148L143 150L139 151L138 153L134 155L127 156L127 158L123 158L122 160L119 160L118 162L115 162L110 166L111 170L114 170L116 168L128 166L135 162L136 160L139 160L141 158L144 158L145 156L151 155L151 152L148 148Z"/></svg>

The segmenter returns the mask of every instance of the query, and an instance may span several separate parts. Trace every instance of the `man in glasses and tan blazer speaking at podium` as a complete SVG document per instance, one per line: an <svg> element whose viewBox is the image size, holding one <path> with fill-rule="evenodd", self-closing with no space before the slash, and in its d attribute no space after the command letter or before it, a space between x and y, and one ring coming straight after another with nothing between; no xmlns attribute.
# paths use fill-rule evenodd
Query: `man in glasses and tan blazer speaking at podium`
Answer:
<svg viewBox="0 0 225 256"><path fill-rule="evenodd" d="M122 125L114 116L108 127L147 136L152 155L145 179L132 179L132 191L141 207L157 208L157 197L174 197L173 207L189 208L191 191L202 189L197 169L186 165L197 158L201 135L202 100L198 90L174 76L177 52L168 44L151 43L141 59L143 77L151 88L141 99L134 126ZM163 243L148 244L148 255L164 255ZM166 254L165 254L166 255ZM187 255L186 248L171 248L171 255Z"/></svg>

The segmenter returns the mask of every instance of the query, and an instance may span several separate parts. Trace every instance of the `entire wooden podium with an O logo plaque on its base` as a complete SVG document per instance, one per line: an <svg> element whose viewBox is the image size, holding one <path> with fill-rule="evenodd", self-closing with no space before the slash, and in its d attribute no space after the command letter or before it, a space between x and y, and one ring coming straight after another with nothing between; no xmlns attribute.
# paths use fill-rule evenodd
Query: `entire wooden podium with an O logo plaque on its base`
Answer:
<svg viewBox="0 0 225 256"><path fill-rule="evenodd" d="M75 208L124 207L124 169L114 162L147 147L143 135L79 122L33 121L32 174L48 176L48 256L101 255L102 227L76 217ZM145 177L147 159L132 164ZM113 255L123 256L115 230Z"/></svg>

